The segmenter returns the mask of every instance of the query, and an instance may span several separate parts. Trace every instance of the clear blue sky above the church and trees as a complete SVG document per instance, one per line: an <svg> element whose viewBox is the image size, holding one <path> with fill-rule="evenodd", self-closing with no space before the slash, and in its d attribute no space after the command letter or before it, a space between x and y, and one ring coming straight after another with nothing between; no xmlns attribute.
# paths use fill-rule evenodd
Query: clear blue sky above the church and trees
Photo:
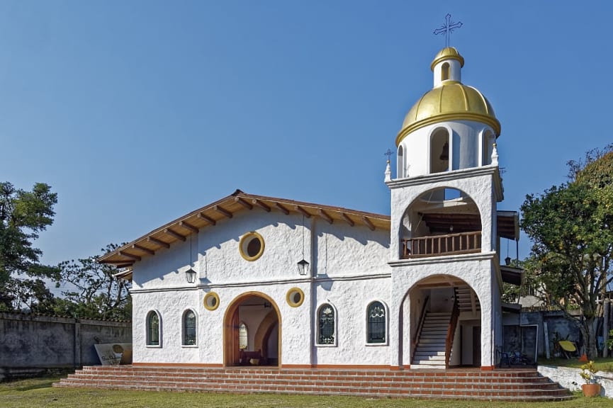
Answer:
<svg viewBox="0 0 613 408"><path fill-rule="evenodd" d="M519 210L612 142L612 4L1 1L0 180L58 193L50 264L237 188L389 214L384 152L451 13L463 82L502 124L500 208Z"/></svg>

